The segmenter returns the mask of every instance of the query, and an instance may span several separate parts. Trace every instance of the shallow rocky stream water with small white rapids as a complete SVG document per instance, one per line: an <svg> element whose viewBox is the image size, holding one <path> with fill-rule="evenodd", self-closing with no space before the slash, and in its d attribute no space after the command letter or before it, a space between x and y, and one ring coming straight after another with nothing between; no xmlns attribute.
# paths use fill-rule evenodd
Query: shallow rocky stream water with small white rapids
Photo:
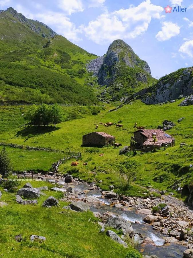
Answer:
<svg viewBox="0 0 193 258"><path fill-rule="evenodd" d="M63 185L64 187L67 185L63 181L58 182L60 185ZM143 255L157 255L159 258L178 258L183 257L183 251L187 249L186 246L180 244L180 243L170 243L164 245L164 235L159 232L159 230L153 230L153 227L143 221L143 218L145 217L144 214L137 214L136 210L137 208L130 208L129 210L123 211L119 208L116 208L114 206L110 206L111 199L101 197L100 190L89 190L90 185L87 185L85 183L68 183L68 186L74 187L75 193L77 192L83 192L83 194L79 195L79 198L83 198L86 196L95 196L101 200L101 202L104 202L104 205L101 205L98 202L92 202L88 203L90 206L90 210L92 212L100 212L103 214L104 212L110 212L113 214L113 216L120 216L122 218L125 218L129 222L131 222L132 227L143 234L144 238L149 237L153 240L154 245L148 245L148 244L141 244L137 248ZM139 221L141 224L135 223L135 220ZM165 235L166 237L166 235Z"/></svg>

